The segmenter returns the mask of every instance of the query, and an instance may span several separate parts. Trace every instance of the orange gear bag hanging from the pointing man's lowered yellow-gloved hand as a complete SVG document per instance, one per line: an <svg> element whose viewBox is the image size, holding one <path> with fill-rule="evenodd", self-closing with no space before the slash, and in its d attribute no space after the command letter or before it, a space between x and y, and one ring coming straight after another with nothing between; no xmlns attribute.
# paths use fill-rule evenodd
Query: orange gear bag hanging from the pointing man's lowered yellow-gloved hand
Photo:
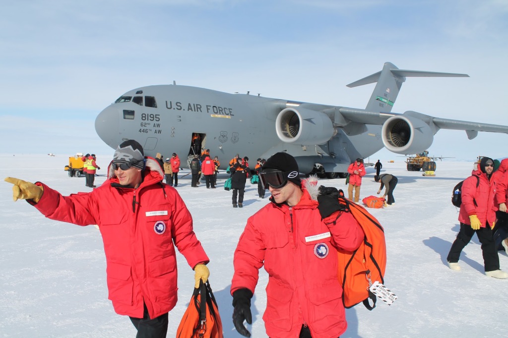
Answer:
<svg viewBox="0 0 508 338"><path fill-rule="evenodd" d="M176 331L177 338L224 338L217 302L210 283L200 281Z"/></svg>

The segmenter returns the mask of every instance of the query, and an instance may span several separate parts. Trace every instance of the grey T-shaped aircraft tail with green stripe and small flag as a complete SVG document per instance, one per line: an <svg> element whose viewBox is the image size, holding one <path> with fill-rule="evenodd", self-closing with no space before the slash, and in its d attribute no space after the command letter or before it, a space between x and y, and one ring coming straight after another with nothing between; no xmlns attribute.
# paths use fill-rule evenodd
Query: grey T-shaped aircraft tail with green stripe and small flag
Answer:
<svg viewBox="0 0 508 338"><path fill-rule="evenodd" d="M406 77L469 77L469 75L402 70L391 62L385 62L382 71L352 82L347 87L353 88L377 82L365 109L367 111L389 113L392 111L395 99L399 94L402 83L406 81Z"/></svg>

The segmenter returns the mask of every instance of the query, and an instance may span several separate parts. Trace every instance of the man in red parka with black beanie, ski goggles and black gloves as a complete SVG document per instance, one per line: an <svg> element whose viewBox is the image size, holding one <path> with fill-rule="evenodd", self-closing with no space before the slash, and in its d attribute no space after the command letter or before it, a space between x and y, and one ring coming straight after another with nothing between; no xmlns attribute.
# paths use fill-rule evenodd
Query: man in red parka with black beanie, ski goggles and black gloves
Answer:
<svg viewBox="0 0 508 338"><path fill-rule="evenodd" d="M264 265L269 275L263 320L272 338L336 338L346 328L337 248L356 250L364 233L355 218L340 211L335 188L301 186L298 164L276 153L263 166L268 205L247 220L234 255L231 283L233 323L252 323L250 299ZM311 196L317 196L317 200Z"/></svg>

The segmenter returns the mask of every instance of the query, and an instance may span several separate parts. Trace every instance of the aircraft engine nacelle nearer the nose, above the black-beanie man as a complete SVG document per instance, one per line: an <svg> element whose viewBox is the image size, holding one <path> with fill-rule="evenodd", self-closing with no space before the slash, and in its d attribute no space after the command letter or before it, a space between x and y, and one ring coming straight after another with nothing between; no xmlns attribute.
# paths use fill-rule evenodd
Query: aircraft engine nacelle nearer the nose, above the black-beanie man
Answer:
<svg viewBox="0 0 508 338"><path fill-rule="evenodd" d="M328 115L305 108L282 110L275 120L275 129L282 142L303 146L324 144L336 134Z"/></svg>

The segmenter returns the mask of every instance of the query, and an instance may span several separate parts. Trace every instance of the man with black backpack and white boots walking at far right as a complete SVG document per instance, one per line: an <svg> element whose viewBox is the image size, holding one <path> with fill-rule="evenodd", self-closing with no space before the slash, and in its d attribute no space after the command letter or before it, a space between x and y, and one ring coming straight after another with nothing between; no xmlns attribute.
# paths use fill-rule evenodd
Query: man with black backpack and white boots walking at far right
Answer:
<svg viewBox="0 0 508 338"><path fill-rule="evenodd" d="M460 230L448 253L448 266L460 271L459 258L464 247L476 233L482 243L485 275L505 279L508 274L499 269L499 256L494 242L492 227L496 219L494 211L495 184L492 182L494 161L484 157L478 170L464 180L461 188Z"/></svg>

